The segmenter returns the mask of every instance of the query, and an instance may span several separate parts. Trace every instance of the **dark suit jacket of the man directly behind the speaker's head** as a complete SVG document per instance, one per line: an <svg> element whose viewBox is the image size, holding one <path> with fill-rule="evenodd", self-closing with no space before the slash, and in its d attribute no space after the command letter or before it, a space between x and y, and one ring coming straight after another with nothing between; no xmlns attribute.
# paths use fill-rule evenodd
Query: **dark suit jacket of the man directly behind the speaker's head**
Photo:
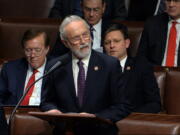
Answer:
<svg viewBox="0 0 180 135"><path fill-rule="evenodd" d="M104 37L104 33L106 31L106 29L108 28L108 26L110 25L110 21L106 21L106 20L102 20L102 28L101 28L101 45L103 43L103 37ZM59 33L57 36L57 40L55 45L53 46L51 52L50 52L50 56L52 57L58 57L61 56L63 54L66 54L69 52L69 49L67 47L65 47L65 45L61 42Z"/></svg>

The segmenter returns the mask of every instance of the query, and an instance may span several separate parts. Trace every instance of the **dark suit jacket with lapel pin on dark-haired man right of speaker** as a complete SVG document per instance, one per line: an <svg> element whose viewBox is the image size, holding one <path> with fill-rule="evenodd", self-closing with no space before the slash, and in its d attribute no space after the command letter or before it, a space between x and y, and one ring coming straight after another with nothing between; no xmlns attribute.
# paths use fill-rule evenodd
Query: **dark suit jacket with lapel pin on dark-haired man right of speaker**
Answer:
<svg viewBox="0 0 180 135"><path fill-rule="evenodd" d="M152 66L143 57L128 57L124 73L124 88L134 103L134 112L157 113L161 110L159 88Z"/></svg>

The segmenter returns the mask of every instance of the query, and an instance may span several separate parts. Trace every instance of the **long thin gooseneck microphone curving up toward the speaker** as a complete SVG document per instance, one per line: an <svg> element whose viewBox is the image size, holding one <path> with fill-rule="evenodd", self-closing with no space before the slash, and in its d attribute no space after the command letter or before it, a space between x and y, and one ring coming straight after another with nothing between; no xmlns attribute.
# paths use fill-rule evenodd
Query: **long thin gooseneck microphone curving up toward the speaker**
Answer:
<svg viewBox="0 0 180 135"><path fill-rule="evenodd" d="M28 88L25 89L25 93L23 94L23 96L20 98L20 100L18 101L17 105L14 107L10 117L9 117L9 125L10 125L10 122L12 120L12 118L14 117L15 113L16 113L16 110L17 108L20 106L20 104L22 103L23 99L25 98L25 96L27 95L27 93L29 92L29 90L31 89L31 87L37 83L39 80L47 77L52 71L54 71L57 67L63 65L63 64L66 64L68 62L68 57L69 55L68 54L65 54L63 56L60 56L60 57L57 57L55 58L53 61L57 61L53 66L51 66L51 68L44 73L43 76L41 76L40 78L38 78L36 81L34 81Z"/></svg>

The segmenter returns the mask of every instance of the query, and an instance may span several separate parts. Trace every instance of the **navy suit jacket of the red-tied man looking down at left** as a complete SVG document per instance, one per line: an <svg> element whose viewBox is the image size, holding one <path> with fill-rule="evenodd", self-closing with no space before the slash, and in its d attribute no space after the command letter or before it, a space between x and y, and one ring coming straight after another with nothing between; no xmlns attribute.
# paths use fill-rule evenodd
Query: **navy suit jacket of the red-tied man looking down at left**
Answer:
<svg viewBox="0 0 180 135"><path fill-rule="evenodd" d="M49 64L48 64L49 63ZM47 60L46 70L51 67L53 62ZM28 63L25 58L14 60L3 65L0 74L0 104L15 105L23 95L24 84L28 69ZM43 79L42 89L46 78ZM43 97L44 92L41 93Z"/></svg>

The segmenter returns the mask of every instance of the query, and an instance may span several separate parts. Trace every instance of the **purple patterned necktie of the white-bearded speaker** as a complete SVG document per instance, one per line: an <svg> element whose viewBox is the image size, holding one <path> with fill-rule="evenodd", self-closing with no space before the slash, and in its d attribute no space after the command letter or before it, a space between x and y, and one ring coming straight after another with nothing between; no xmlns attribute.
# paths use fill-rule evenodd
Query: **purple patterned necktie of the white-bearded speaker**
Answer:
<svg viewBox="0 0 180 135"><path fill-rule="evenodd" d="M78 61L78 66L79 66L79 73L78 73L78 84L77 84L77 96L78 96L78 100L79 100L79 105L82 105L83 102L83 94L84 94L84 88L85 88L85 71L84 71L84 63L79 60Z"/></svg>

